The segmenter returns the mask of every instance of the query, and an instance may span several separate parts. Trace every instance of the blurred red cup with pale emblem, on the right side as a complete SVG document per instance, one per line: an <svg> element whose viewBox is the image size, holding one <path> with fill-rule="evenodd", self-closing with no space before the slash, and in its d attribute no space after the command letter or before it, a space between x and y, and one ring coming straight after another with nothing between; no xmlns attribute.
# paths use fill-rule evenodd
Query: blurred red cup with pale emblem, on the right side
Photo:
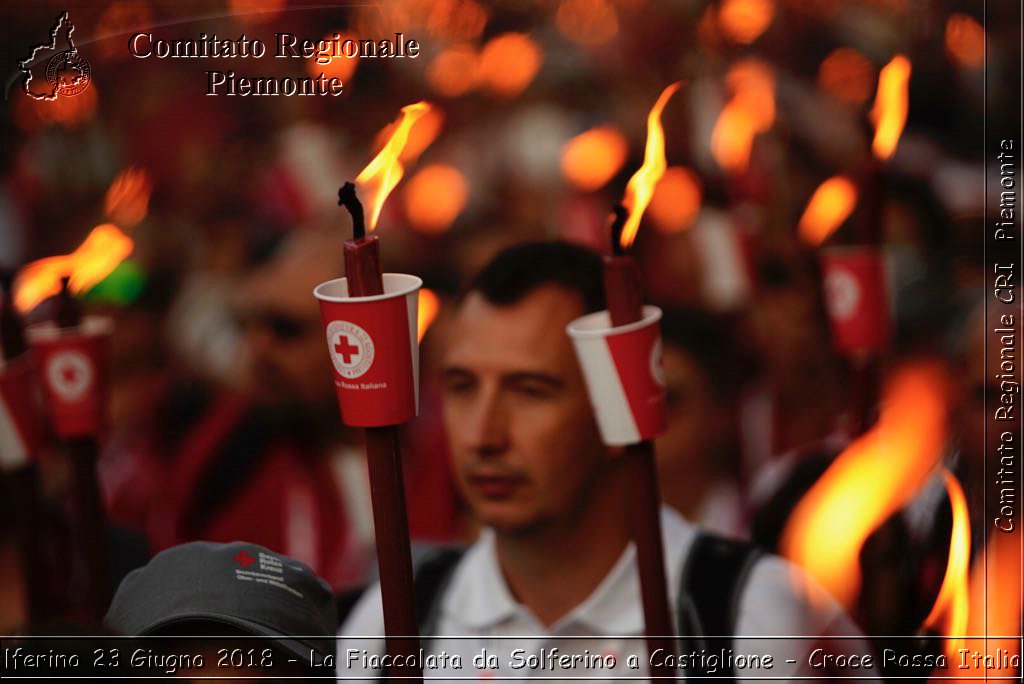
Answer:
<svg viewBox="0 0 1024 684"><path fill-rule="evenodd" d="M821 250L825 307L836 348L879 352L889 342L889 298L882 251L876 247Z"/></svg>

